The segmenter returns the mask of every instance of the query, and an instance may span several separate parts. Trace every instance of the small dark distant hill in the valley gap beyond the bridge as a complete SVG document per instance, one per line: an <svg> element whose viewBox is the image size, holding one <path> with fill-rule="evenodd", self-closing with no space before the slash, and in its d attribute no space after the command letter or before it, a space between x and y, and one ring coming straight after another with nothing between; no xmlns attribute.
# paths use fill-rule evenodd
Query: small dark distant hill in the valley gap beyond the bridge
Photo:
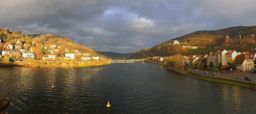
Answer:
<svg viewBox="0 0 256 114"><path fill-rule="evenodd" d="M121 59L121 58L129 58L132 53L116 53L116 52L99 52L102 55L110 57L112 59Z"/></svg>

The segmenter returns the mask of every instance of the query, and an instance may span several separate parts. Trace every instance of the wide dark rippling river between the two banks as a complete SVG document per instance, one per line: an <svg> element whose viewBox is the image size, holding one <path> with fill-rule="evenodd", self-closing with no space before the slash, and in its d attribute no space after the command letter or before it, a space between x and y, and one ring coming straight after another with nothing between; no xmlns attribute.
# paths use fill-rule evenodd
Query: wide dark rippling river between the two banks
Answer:
<svg viewBox="0 0 256 114"><path fill-rule="evenodd" d="M256 112L255 90L190 78L154 63L0 69L0 97L11 101L9 113Z"/></svg>

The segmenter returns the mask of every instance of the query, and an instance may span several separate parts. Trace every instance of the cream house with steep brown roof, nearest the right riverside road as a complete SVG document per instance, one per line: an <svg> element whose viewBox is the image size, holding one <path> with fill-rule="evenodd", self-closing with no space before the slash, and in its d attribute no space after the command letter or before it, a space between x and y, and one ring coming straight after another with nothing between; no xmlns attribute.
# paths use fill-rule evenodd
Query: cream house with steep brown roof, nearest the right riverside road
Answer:
<svg viewBox="0 0 256 114"><path fill-rule="evenodd" d="M240 72L248 72L254 69L254 62L249 55L240 54L234 59L234 62L237 63L237 69Z"/></svg>

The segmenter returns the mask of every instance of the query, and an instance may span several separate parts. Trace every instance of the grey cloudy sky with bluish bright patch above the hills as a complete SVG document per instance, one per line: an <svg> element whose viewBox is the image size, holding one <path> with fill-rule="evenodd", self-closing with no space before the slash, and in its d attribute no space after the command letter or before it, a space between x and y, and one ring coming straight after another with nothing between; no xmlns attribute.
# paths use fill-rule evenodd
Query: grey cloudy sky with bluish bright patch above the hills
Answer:
<svg viewBox="0 0 256 114"><path fill-rule="evenodd" d="M256 25L255 0L0 0L0 27L134 53L199 30Z"/></svg>

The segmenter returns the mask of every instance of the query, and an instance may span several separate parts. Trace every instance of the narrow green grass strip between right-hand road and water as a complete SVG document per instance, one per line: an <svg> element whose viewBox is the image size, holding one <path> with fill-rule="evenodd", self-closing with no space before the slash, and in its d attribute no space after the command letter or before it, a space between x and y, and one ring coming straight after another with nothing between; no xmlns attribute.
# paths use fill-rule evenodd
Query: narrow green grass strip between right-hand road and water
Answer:
<svg viewBox="0 0 256 114"><path fill-rule="evenodd" d="M187 76L193 77L193 78L197 78L197 79L201 79L201 80L211 81L211 82L219 82L219 83L225 83L225 84L230 84L230 85L236 85L236 86L256 89L256 84L253 84L253 83L228 80L228 79L216 78L216 77L208 77L208 76L202 76L202 75L197 75L197 74L192 74L192 73L184 73L184 75L187 75Z"/></svg>

